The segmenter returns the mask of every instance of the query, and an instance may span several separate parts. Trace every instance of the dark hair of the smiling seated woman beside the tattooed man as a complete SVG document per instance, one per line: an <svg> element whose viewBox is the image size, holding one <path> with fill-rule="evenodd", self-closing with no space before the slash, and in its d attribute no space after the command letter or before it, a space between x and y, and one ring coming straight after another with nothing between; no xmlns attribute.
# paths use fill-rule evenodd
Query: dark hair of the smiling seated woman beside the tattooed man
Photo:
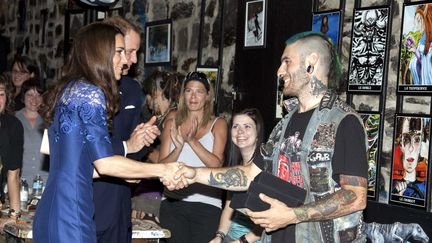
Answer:
<svg viewBox="0 0 432 243"><path fill-rule="evenodd" d="M246 108L236 114L234 114L234 116L231 119L231 126L233 124L233 120L234 117L238 116L238 115L246 115L248 117L250 117L256 125L256 133L257 133L257 141L256 141L256 145L255 145L255 151L254 151L254 155L252 156L251 160L256 156L257 153L259 153L260 151L260 147L261 144L264 142L264 121L262 119L261 113L259 112L258 109L256 108ZM229 138L230 138L230 142L228 145L228 153L227 153L227 158L225 160L225 165L226 166L235 166L235 165L242 165L243 163L247 163L249 161L243 161L241 153L240 153L240 149L237 147L237 145L235 145L231 139L231 129L228 129L229 131Z"/></svg>

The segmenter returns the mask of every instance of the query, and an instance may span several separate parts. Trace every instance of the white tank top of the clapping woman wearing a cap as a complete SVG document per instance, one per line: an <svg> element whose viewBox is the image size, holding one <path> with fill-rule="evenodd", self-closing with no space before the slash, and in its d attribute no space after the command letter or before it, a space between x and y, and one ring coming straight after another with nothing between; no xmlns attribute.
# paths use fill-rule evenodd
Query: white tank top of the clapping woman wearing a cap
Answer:
<svg viewBox="0 0 432 243"><path fill-rule="evenodd" d="M202 144L202 146L210 152L213 150L213 144L214 144L214 136L212 130L217 119L218 117L216 117L216 119L213 121L209 131L199 139L199 142ZM175 146L171 142L170 152L173 151L174 148ZM206 165L201 161L201 159L193 151L193 149L190 147L188 143L185 143L183 145L183 149L180 152L179 158L177 160L184 162L186 165L191 167L206 167ZM186 202L201 202L201 203L213 205L218 208L222 208L221 197L222 197L221 189L195 183L181 190L169 191L165 188L163 199L173 198L173 199L182 200Z"/></svg>

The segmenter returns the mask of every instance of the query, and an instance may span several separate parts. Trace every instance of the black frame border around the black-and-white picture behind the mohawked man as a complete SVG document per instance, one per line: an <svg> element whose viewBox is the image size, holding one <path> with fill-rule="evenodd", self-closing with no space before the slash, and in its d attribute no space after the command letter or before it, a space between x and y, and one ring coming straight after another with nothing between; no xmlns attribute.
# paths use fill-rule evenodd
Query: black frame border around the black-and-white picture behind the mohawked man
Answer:
<svg viewBox="0 0 432 243"><path fill-rule="evenodd" d="M366 10L374 10L374 9L383 9L386 8L388 11L387 16L387 30L386 30L386 42L385 42L385 53L384 53L384 63L383 63L383 75L381 80L381 85L351 85L349 83L349 76L351 73L351 59L352 59L352 48L353 48L353 29L354 29L354 16L356 11L366 11ZM348 59L348 69L347 69L347 93L350 94L380 94L383 92L383 86L386 84L387 79L387 72L388 72L388 60L389 60L389 38L391 38L391 8L388 5L380 5L380 6L370 6L370 7L360 7L360 8L354 8L353 14L352 14L352 23L351 23L351 42L350 42L350 49L349 49L349 59ZM354 88L356 86L363 87L363 89L360 88Z"/></svg>

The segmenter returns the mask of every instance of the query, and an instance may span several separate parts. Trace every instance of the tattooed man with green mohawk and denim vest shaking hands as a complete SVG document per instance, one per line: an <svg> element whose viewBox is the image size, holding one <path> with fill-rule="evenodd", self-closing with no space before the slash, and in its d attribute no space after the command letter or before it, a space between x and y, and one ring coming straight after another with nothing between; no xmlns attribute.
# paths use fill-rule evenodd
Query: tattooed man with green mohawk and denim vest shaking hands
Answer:
<svg viewBox="0 0 432 243"><path fill-rule="evenodd" d="M365 131L356 112L332 91L339 84L340 63L331 41L316 32L291 37L277 76L284 83L283 94L295 98L286 102L288 114L273 129L261 155L248 166L185 167L186 177L190 183L242 191L267 170L306 189L303 206L290 208L262 193L260 199L270 209L246 210L265 229L263 242L366 242ZM301 144L290 144L292 136ZM291 149L296 146L299 151Z"/></svg>

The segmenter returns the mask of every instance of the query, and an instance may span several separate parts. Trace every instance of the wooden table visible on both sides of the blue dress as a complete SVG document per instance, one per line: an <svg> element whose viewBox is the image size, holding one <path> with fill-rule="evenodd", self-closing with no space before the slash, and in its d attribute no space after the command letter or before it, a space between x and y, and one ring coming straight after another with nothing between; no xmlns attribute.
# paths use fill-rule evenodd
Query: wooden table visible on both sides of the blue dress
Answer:
<svg viewBox="0 0 432 243"><path fill-rule="evenodd" d="M6 242L32 242L33 232L31 221L19 221L19 223L6 224L4 231L7 233ZM170 237L171 232L169 230L161 228L153 221L132 219L133 243L159 242L161 238ZM11 240L11 238L15 238L15 240Z"/></svg>

